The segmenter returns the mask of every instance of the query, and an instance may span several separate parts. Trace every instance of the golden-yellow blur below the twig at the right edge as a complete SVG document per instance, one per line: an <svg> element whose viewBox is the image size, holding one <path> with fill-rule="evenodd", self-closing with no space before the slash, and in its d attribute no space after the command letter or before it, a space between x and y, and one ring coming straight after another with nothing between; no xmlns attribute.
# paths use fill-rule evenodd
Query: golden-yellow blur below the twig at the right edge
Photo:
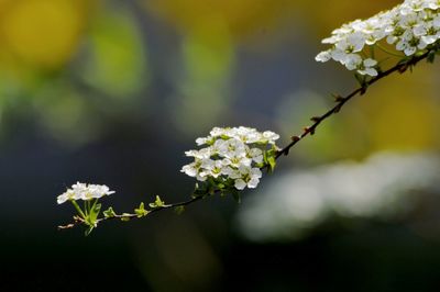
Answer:
<svg viewBox="0 0 440 292"><path fill-rule="evenodd" d="M437 145L440 108L430 76L432 68L419 65L414 74L391 76L372 88L361 106L373 150L426 150Z"/></svg>

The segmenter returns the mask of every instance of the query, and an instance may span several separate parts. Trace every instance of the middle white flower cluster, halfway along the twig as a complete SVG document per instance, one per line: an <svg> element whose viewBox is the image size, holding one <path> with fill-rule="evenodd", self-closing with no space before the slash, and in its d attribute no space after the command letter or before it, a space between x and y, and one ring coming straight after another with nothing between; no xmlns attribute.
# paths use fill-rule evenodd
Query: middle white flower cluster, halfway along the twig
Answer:
<svg viewBox="0 0 440 292"><path fill-rule="evenodd" d="M238 190L256 188L262 177L258 165L264 162L264 150L267 145L275 148L278 138L279 135L271 131L260 133L244 126L215 127L208 137L196 139L198 146L208 147L185 153L195 161L180 171L199 181L208 178L224 182L232 180Z"/></svg>

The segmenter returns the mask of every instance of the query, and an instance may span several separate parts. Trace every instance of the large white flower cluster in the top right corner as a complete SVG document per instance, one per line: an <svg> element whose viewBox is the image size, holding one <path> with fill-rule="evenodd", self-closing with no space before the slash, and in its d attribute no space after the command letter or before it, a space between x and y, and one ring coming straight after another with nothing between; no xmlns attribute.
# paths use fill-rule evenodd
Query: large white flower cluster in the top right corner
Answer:
<svg viewBox="0 0 440 292"><path fill-rule="evenodd" d="M317 61L333 59L349 70L377 76L377 60L365 56L365 46L386 40L406 56L426 49L440 38L440 0L406 0L392 10L367 20L355 20L322 40L332 47L321 52Z"/></svg>

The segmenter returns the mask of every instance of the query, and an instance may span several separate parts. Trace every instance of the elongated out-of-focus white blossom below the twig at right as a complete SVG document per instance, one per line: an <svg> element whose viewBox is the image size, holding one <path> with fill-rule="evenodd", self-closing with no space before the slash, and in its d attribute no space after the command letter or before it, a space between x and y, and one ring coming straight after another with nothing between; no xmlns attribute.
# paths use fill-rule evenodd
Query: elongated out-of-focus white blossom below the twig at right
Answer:
<svg viewBox="0 0 440 292"><path fill-rule="evenodd" d="M242 233L253 240L290 240L334 216L404 215L421 193L440 193L436 154L375 154L362 162L340 161L294 169L271 178L238 214Z"/></svg>

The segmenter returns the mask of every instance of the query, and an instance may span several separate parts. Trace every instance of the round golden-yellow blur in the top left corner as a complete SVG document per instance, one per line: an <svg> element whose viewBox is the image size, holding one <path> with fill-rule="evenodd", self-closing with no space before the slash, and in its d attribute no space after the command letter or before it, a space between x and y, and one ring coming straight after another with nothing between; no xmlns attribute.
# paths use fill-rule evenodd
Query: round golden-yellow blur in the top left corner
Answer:
<svg viewBox="0 0 440 292"><path fill-rule="evenodd" d="M2 0L0 42L20 61L56 68L75 53L86 21L82 0Z"/></svg>

